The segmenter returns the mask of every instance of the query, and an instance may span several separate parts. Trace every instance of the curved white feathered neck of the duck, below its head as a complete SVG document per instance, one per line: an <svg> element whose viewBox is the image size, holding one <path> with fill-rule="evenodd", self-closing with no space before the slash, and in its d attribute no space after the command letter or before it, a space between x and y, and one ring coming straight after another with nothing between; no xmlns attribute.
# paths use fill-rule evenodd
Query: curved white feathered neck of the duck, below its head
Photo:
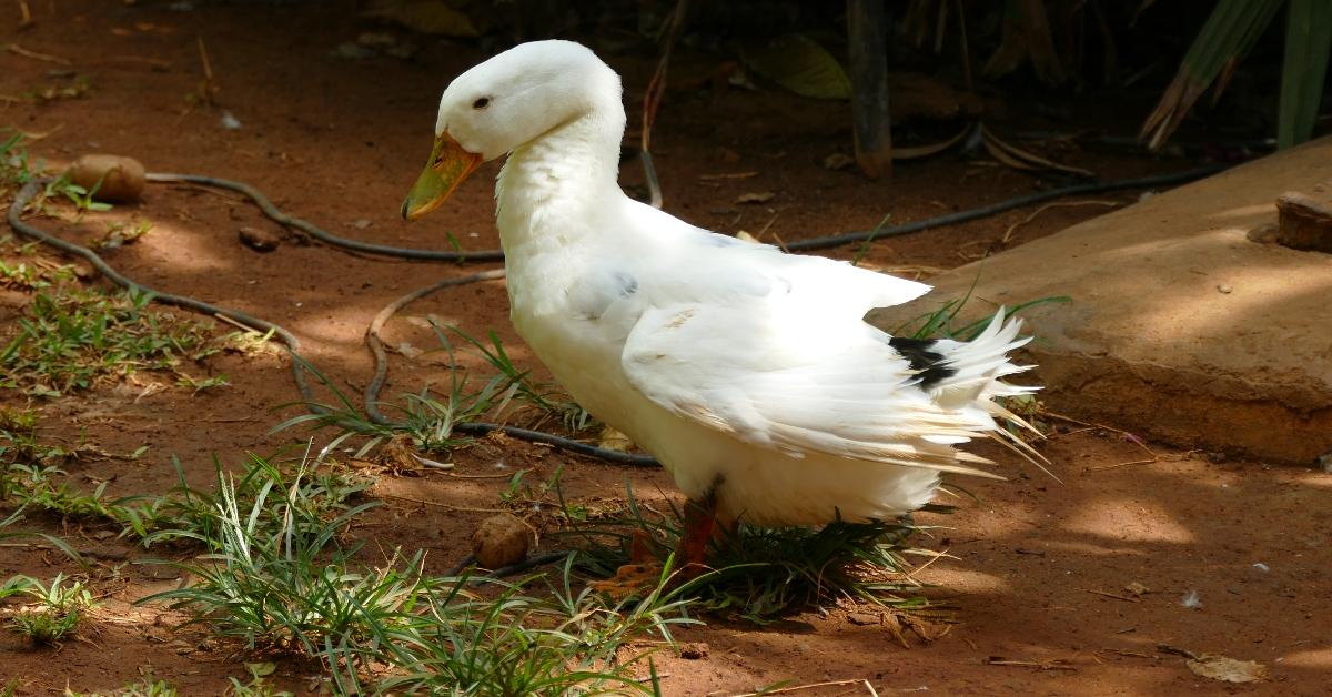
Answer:
<svg viewBox="0 0 1332 697"><path fill-rule="evenodd" d="M614 109L590 109L509 155L496 204L510 260L595 233L590 221L623 196L617 181L623 131L625 112L617 103Z"/></svg>

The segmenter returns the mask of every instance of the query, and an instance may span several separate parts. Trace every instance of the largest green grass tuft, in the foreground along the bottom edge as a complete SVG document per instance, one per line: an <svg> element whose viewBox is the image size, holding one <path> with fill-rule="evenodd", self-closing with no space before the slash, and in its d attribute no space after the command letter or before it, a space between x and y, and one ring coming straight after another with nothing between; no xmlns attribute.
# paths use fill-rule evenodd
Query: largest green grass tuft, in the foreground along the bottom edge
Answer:
<svg viewBox="0 0 1332 697"><path fill-rule="evenodd" d="M690 621L681 597L661 589L615 606L575 594L569 565L546 584L429 576L424 552L368 565L342 538L373 502L330 517L306 500L318 496L304 484L314 465L256 468L257 490L244 476L221 476L200 508L208 522L165 532L210 550L159 562L193 582L140 602L188 612L189 624L249 652L317 658L340 693L646 692L634 674L642 656L621 649L646 633L669 640L671 625Z"/></svg>

